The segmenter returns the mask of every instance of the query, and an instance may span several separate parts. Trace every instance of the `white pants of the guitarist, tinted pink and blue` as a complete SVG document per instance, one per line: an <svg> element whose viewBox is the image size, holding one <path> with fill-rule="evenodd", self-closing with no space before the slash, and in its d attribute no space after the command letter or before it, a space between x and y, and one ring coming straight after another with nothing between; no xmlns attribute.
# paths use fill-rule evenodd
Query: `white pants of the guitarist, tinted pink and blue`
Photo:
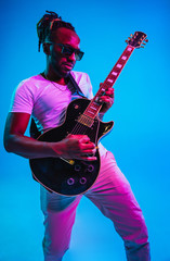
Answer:
<svg viewBox="0 0 170 261"><path fill-rule="evenodd" d="M112 152L108 151L102 157L99 177L84 196L113 221L125 241L128 261L151 260L147 228L142 211ZM45 229L44 261L61 261L68 249L76 209L81 197L60 196L41 187Z"/></svg>

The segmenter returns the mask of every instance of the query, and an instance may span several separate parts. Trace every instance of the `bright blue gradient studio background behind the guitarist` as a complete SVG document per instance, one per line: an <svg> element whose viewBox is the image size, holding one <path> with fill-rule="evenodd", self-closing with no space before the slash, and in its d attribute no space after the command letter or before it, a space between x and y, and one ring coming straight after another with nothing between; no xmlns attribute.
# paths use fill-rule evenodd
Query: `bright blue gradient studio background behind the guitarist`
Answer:
<svg viewBox="0 0 170 261"><path fill-rule="evenodd" d="M131 183L148 226L154 261L170 261L170 1L1 1L0 98L0 261L41 261L43 235L39 185L28 161L4 151L2 135L11 95L24 78L43 71L36 23L45 10L57 12L76 27L86 52L75 70L87 72L99 89L135 30L148 36L134 50L115 84L114 120L103 139ZM123 261L123 245L113 224L82 199L64 261Z"/></svg>

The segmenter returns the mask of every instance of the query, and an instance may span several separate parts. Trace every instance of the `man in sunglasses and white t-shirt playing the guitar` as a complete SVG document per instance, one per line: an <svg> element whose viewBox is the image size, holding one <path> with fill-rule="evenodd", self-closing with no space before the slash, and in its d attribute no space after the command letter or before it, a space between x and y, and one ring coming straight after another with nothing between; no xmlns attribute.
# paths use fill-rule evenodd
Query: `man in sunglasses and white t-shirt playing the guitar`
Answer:
<svg viewBox="0 0 170 261"><path fill-rule="evenodd" d="M96 160L95 145L87 135L68 135L57 142L38 141L25 136L30 115L39 132L56 127L64 122L69 102L79 96L73 90L73 75L86 97L92 98L89 76L74 72L74 65L83 53L75 28L54 12L43 15L37 25L39 49L42 44L47 57L43 73L23 80L15 90L4 130L4 147L27 159L65 158ZM100 116L110 108L114 90L101 97ZM130 185L118 169L112 152L101 144L101 170L94 185L84 192L109 217L125 241L127 260L148 261L149 245L142 211ZM66 197L48 191L41 186L41 208L44 214L43 251L45 261L60 261L69 247L76 209L82 195Z"/></svg>

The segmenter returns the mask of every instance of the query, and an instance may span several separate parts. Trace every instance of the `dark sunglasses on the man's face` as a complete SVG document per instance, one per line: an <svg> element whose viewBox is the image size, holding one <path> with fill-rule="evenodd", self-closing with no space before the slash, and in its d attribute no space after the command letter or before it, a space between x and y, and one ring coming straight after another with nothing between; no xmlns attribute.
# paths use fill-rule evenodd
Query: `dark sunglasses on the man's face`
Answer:
<svg viewBox="0 0 170 261"><path fill-rule="evenodd" d="M69 46L66 46L66 45L63 45L63 44L56 44L56 42L53 42L53 41L48 41L48 44L53 44L53 45L57 45L61 47L61 53L64 55L64 57L70 57L73 53L75 53L75 57L76 57L76 61L80 61L84 54L84 52L80 51L79 49L75 49L73 47L69 47Z"/></svg>

